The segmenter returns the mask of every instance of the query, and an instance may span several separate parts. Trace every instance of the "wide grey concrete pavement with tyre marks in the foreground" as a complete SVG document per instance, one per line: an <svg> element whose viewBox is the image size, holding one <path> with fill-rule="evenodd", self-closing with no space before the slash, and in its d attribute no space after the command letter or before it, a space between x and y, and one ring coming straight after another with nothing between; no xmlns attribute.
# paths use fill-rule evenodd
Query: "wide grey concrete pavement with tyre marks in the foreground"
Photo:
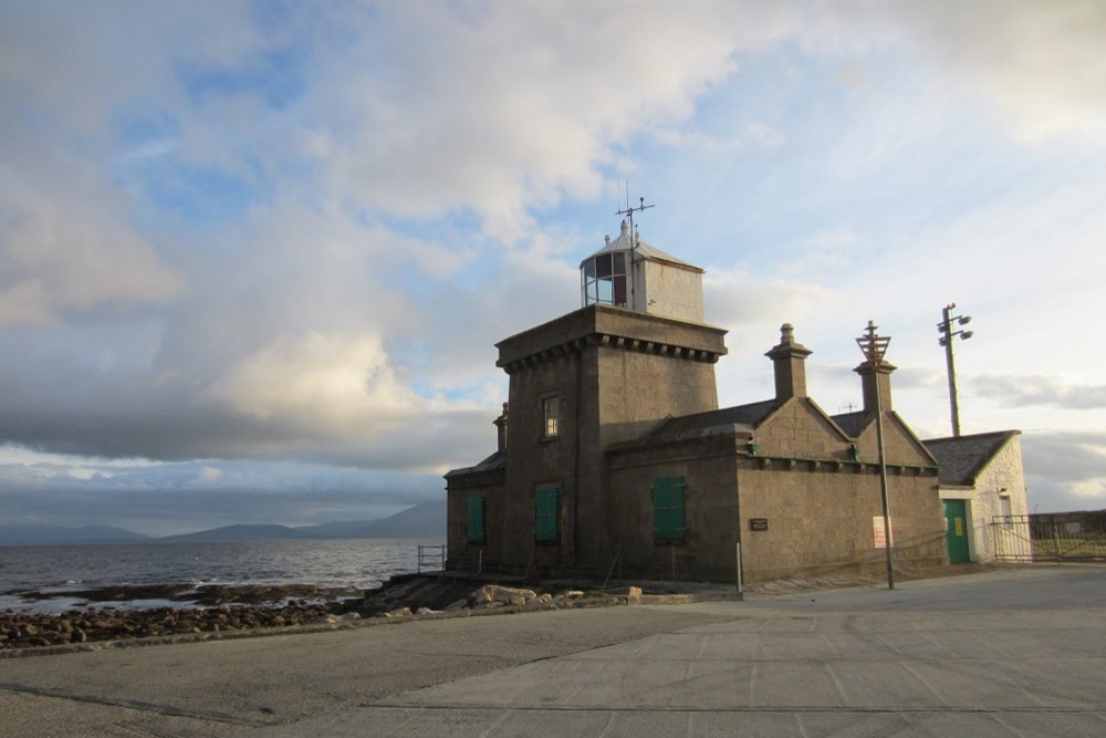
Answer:
<svg viewBox="0 0 1106 738"><path fill-rule="evenodd" d="M1106 567L0 661L21 736L1106 735Z"/></svg>

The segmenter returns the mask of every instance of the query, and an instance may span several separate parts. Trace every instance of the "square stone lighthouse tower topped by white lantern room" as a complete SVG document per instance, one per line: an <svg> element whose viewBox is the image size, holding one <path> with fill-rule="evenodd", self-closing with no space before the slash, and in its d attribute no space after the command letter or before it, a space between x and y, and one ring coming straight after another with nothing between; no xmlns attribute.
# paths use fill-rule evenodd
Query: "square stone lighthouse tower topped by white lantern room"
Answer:
<svg viewBox="0 0 1106 738"><path fill-rule="evenodd" d="M490 559L565 574L611 565L607 449L718 408L726 331L702 323L702 273L623 222L581 262L582 308L497 344L510 402L503 498L495 510L497 493L481 498L500 548Z"/></svg>

